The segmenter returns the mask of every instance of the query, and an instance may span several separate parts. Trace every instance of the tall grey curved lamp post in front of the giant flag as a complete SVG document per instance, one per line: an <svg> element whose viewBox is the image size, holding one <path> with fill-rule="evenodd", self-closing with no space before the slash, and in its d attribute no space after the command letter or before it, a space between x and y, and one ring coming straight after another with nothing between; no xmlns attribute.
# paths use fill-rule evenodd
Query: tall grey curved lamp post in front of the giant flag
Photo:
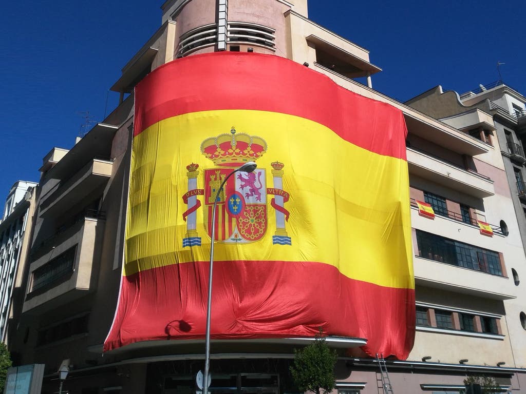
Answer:
<svg viewBox="0 0 526 394"><path fill-rule="evenodd" d="M212 303L212 271L214 268L214 241L216 237L216 208L217 200L219 199L219 193L223 189L228 178L234 175L236 172L252 172L256 169L257 164L253 161L249 161L241 165L241 167L230 172L227 177L221 182L219 189L216 193L216 198L214 199L214 208L212 209L212 241L210 242L210 269L208 272L208 305L206 310L206 335L205 335L205 376L203 384L203 394L208 394L208 385L210 384L208 379L208 374L210 371L210 312L211 312L211 303Z"/></svg>

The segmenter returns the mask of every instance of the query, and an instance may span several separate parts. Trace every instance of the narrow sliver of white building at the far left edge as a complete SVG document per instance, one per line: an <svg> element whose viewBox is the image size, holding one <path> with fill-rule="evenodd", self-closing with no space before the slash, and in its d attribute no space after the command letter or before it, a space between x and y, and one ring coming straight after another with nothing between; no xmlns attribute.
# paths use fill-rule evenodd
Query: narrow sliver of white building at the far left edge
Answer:
<svg viewBox="0 0 526 394"><path fill-rule="evenodd" d="M8 343L9 334L16 331L12 318L20 313L25 262L31 240L33 211L35 209L35 182L17 181L12 186L0 220L0 340Z"/></svg>

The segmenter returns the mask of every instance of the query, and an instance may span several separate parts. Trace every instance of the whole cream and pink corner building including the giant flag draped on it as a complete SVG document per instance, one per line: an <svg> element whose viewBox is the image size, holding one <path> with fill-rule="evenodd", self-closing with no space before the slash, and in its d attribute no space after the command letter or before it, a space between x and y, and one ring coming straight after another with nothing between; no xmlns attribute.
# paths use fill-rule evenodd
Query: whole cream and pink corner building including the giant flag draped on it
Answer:
<svg viewBox="0 0 526 394"><path fill-rule="evenodd" d="M43 393L64 366L72 394L199 392L213 195L255 161L217 201L210 392L298 392L320 327L335 394L520 392L526 257L491 116L373 90L369 51L306 0L161 9L118 107L44 158L15 365L44 364Z"/></svg>

